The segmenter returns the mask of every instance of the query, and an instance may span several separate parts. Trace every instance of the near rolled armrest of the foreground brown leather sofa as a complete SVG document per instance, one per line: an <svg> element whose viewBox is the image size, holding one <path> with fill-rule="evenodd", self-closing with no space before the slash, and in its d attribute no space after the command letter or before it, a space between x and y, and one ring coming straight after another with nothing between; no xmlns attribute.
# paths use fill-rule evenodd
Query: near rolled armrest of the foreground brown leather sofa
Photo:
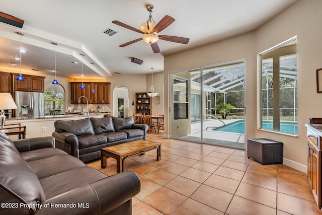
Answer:
<svg viewBox="0 0 322 215"><path fill-rule="evenodd" d="M107 214L139 191L140 179L136 173L123 172L47 199L43 205L49 203L49 206L37 209L35 214ZM51 204L74 204L76 207L54 208Z"/></svg>

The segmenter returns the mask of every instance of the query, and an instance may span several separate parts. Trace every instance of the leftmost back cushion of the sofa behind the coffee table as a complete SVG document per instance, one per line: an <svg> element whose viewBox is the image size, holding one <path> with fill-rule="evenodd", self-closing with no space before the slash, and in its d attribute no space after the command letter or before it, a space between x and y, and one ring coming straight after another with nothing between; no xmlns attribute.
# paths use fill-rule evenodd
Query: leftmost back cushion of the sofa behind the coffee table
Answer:
<svg viewBox="0 0 322 215"><path fill-rule="evenodd" d="M94 134L90 118L69 121L57 120L54 122L54 126L57 132L68 132L76 136Z"/></svg>

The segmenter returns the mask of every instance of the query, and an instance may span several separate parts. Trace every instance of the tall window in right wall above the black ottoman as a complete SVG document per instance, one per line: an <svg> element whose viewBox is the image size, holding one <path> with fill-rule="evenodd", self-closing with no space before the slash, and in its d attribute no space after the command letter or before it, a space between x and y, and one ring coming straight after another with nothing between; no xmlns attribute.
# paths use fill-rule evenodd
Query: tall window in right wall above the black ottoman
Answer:
<svg viewBox="0 0 322 215"><path fill-rule="evenodd" d="M260 127L297 134L296 38L260 54L260 59Z"/></svg>

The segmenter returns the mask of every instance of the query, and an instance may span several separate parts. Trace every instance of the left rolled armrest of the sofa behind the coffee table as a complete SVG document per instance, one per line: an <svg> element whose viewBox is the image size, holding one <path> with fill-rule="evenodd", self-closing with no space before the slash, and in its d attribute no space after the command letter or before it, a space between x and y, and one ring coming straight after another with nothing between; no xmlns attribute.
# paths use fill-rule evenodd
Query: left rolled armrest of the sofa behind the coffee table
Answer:
<svg viewBox="0 0 322 215"><path fill-rule="evenodd" d="M64 150L75 158L79 158L79 142L75 134L54 131L51 135L56 139L56 148ZM58 146L60 143L66 146Z"/></svg>

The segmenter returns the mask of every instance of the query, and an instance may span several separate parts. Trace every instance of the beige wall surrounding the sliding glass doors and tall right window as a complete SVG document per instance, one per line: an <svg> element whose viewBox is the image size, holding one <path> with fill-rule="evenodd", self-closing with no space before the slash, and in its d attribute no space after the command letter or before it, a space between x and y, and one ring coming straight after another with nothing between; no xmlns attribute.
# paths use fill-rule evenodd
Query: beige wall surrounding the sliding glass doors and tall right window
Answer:
<svg viewBox="0 0 322 215"><path fill-rule="evenodd" d="M322 68L322 1L300 0L254 32L165 56L165 83L172 71L246 59L246 138L270 138L284 143L283 163L306 172L306 128L309 117L322 117L322 94L316 93L315 70ZM257 129L257 55L293 36L298 53L298 136ZM165 86L165 109L168 104ZM168 116L168 113L167 113ZM167 125L166 116L166 125ZM165 134L169 134L166 126Z"/></svg>

